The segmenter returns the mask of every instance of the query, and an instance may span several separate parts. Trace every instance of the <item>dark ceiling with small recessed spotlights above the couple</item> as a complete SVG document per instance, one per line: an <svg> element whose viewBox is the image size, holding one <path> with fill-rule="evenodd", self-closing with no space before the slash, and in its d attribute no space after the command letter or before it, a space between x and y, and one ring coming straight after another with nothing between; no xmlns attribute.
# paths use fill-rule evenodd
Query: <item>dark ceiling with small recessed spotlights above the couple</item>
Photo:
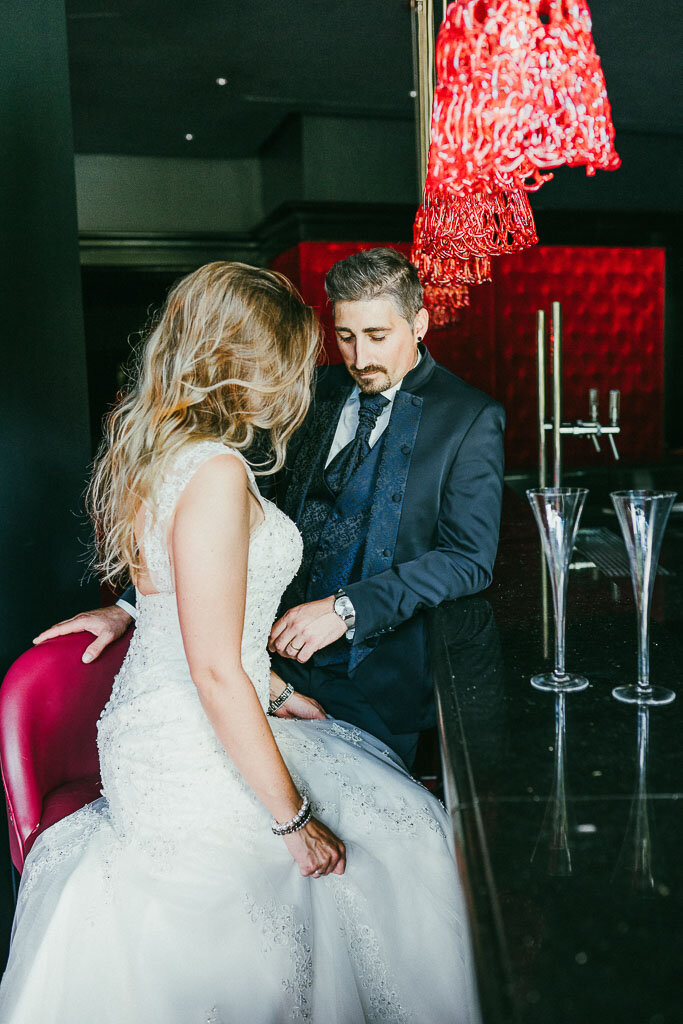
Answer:
<svg viewBox="0 0 683 1024"><path fill-rule="evenodd" d="M617 146L620 128L680 133L680 0L590 6ZM250 157L293 113L412 115L409 0L67 0L67 12L78 153Z"/></svg>

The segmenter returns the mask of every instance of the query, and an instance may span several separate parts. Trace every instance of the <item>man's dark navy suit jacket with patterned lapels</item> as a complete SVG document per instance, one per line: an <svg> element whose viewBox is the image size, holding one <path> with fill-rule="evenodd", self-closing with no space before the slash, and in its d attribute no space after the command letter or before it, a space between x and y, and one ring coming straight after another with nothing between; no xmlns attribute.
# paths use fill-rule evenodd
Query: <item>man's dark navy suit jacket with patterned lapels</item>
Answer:
<svg viewBox="0 0 683 1024"><path fill-rule="evenodd" d="M392 732L431 724L423 612L490 584L503 492L503 407L421 351L384 434L361 579L345 588L356 613L349 673ZM318 372L278 481L295 521L352 387L344 366Z"/></svg>

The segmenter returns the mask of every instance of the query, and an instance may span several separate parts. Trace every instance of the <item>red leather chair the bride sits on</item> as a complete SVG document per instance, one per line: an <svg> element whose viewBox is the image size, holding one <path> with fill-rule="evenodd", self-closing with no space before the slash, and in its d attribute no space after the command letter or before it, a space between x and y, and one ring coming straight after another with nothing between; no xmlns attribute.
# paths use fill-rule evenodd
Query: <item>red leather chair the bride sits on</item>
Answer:
<svg viewBox="0 0 683 1024"><path fill-rule="evenodd" d="M90 633L32 647L0 687L0 766L17 870L48 825L99 796L97 719L112 692L130 630L91 665Z"/></svg>

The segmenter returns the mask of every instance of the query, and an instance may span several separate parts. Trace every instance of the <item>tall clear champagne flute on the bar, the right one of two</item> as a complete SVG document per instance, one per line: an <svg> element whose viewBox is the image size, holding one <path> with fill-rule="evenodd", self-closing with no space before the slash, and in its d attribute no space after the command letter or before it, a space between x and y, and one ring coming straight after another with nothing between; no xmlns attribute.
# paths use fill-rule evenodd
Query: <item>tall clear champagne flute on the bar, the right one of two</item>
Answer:
<svg viewBox="0 0 683 1024"><path fill-rule="evenodd" d="M629 554L638 618L638 682L616 686L612 695L625 703L666 705L676 694L650 683L650 606L659 551L675 490L613 490L610 496Z"/></svg>

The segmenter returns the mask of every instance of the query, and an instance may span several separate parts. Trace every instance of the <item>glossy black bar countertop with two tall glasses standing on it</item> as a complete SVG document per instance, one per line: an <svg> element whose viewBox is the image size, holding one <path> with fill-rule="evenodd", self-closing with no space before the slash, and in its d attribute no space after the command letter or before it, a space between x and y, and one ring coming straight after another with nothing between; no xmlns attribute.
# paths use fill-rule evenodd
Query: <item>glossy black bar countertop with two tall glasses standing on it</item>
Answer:
<svg viewBox="0 0 683 1024"><path fill-rule="evenodd" d="M618 534L609 482L593 481L583 524ZM636 681L631 581L586 567L570 571L566 664L590 686L562 697L530 686L552 668L552 601L546 617L536 526L509 488L494 585L433 615L484 1024L683 1022L681 513L660 564L672 574L655 585L651 679L678 691L668 707L611 696Z"/></svg>

